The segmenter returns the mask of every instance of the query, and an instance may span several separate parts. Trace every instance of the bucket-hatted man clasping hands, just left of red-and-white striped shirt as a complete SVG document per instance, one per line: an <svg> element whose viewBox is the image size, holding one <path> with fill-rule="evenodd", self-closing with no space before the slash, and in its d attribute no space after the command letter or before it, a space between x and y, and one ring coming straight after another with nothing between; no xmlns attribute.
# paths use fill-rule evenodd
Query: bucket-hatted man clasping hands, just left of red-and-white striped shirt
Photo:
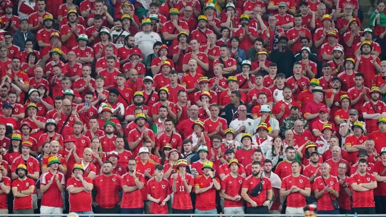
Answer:
<svg viewBox="0 0 386 217"><path fill-rule="evenodd" d="M140 148L143 146L143 141L150 141L151 146L155 146L155 138L152 130L145 127L146 116L144 113L137 114L134 122L138 125L136 129L130 130L127 141L129 148L133 152L134 156L139 153Z"/></svg>

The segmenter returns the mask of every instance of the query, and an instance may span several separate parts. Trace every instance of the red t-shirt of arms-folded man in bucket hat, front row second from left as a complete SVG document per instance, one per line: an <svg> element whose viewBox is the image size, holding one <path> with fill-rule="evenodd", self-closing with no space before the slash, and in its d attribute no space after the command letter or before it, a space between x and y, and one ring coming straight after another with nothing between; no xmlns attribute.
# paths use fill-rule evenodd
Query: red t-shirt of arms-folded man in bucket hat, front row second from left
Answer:
<svg viewBox="0 0 386 217"><path fill-rule="evenodd" d="M25 177L24 180L17 178L12 181L12 189L16 188L18 191L28 190L30 186L35 186L35 181L32 178ZM35 191L36 191L36 188L35 188ZM14 197L13 209L14 210L32 209L32 194L24 197Z"/></svg>

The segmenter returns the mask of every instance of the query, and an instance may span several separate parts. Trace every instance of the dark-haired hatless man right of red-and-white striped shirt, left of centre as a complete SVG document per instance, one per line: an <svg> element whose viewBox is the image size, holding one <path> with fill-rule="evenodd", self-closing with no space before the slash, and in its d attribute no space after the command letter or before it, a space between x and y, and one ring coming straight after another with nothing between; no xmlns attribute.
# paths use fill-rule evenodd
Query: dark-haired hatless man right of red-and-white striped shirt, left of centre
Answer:
<svg viewBox="0 0 386 217"><path fill-rule="evenodd" d="M182 149L182 138L181 135L174 131L174 123L171 119L166 119L164 121L165 130L158 133L157 138L155 139L155 151L154 153L161 157L160 150L164 149L164 146L171 146L173 149L177 149L178 152L181 152Z"/></svg>

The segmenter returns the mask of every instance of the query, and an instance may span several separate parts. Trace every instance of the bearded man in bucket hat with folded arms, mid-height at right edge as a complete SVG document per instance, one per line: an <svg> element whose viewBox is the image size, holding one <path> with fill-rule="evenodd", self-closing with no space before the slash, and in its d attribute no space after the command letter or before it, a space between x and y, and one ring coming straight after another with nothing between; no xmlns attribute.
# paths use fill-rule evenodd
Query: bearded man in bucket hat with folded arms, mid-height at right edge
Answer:
<svg viewBox="0 0 386 217"><path fill-rule="evenodd" d="M371 100L363 104L362 115L369 132L378 130L377 121L386 116L386 105L379 100L380 95L379 87L371 87Z"/></svg>

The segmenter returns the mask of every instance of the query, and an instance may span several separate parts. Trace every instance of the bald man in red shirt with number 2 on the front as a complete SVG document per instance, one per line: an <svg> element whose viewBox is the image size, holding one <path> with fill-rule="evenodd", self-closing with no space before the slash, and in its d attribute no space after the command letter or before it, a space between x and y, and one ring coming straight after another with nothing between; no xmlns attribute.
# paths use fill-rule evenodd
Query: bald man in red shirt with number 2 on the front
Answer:
<svg viewBox="0 0 386 217"><path fill-rule="evenodd" d="M79 119L79 115L77 114L76 109L72 108L71 106L71 101L69 99L64 99L61 111L58 111L52 117L55 120L55 123L57 123L57 132L62 134L62 136L73 134L72 126L75 121L82 123ZM70 117L67 118L68 116Z"/></svg>

